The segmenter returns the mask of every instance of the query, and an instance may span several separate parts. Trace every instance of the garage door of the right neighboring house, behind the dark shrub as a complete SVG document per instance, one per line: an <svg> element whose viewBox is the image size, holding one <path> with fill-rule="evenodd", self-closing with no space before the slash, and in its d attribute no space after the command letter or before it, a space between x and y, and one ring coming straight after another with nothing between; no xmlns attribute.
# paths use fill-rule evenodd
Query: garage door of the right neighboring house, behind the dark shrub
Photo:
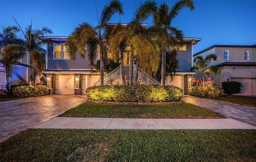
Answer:
<svg viewBox="0 0 256 162"><path fill-rule="evenodd" d="M256 95L256 78L231 78L231 81L242 83L242 91L237 95Z"/></svg>

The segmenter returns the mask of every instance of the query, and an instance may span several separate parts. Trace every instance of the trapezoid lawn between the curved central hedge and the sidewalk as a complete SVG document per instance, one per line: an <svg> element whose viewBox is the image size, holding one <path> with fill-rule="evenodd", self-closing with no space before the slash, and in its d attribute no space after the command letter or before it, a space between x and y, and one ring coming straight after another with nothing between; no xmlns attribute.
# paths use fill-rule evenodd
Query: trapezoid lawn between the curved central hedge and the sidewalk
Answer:
<svg viewBox="0 0 256 162"><path fill-rule="evenodd" d="M114 105L83 103L62 116L108 118L223 118L217 112L193 104Z"/></svg>

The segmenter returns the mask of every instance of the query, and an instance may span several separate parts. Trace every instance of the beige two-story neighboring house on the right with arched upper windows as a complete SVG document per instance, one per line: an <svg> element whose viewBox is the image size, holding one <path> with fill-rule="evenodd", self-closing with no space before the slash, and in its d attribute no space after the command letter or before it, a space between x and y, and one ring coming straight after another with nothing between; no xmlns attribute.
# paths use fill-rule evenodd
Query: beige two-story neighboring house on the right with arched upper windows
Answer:
<svg viewBox="0 0 256 162"><path fill-rule="evenodd" d="M216 54L216 61L212 61L209 66L216 65L221 68L221 73L216 77L214 83L221 88L221 82L238 81L242 83L242 92L237 95L256 95L256 44L252 46L238 45L214 45L193 57L207 54ZM200 78L202 74L194 75Z"/></svg>

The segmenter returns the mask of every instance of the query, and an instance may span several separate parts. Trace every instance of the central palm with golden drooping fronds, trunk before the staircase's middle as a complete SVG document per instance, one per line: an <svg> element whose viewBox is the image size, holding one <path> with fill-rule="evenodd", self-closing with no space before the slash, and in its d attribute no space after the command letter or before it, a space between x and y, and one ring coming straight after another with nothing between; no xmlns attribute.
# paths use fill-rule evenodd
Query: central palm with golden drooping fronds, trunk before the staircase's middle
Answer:
<svg viewBox="0 0 256 162"><path fill-rule="evenodd" d="M110 34L109 37L109 49L111 56L116 57L119 53L119 49L128 49L128 58L129 58L129 85L132 84L132 68L133 68L133 58L134 58L134 51L138 54L137 55L137 62L143 62L144 58L155 58L155 57L146 57L152 54L151 38L147 39L148 37L144 36L142 33L145 32L145 29L142 26L142 23L148 19L150 15L156 12L156 2L154 1L145 1L144 3L140 4L140 6L134 12L134 16L132 21L127 24L127 26L123 26L122 24L116 25L114 28L114 32ZM122 44L122 46L120 46ZM146 50L150 48L151 52ZM122 53L122 51L121 51ZM143 57L144 56L144 57ZM121 59L122 60L122 59ZM154 61L157 62L158 61ZM121 61L122 63L122 61ZM146 64L141 64L144 67ZM134 80L136 82L137 80Z"/></svg>

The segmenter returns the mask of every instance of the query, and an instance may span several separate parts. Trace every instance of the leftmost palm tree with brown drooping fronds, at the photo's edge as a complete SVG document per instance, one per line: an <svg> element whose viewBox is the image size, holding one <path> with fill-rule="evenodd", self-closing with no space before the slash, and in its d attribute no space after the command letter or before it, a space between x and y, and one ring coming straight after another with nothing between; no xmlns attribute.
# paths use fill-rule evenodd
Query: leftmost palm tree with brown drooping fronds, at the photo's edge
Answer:
<svg viewBox="0 0 256 162"><path fill-rule="evenodd" d="M19 32L17 26L8 26L0 32L1 53L0 62L3 64L6 74L6 91L9 91L10 80L16 65L19 64L26 52L24 42L17 38L16 33Z"/></svg>

